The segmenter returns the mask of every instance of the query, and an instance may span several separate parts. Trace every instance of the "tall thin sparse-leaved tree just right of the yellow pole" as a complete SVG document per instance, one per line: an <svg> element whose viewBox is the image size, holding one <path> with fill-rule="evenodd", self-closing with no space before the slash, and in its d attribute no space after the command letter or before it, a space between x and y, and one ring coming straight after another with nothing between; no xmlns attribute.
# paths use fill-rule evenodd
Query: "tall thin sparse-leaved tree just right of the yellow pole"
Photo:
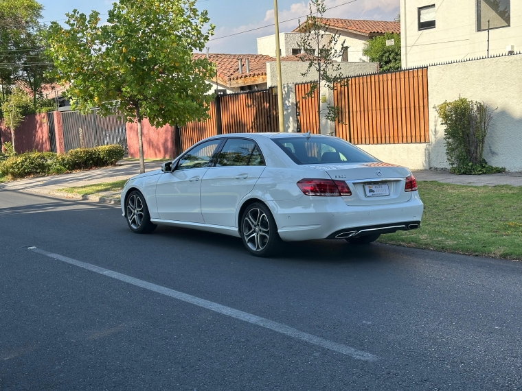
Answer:
<svg viewBox="0 0 522 391"><path fill-rule="evenodd" d="M304 33L297 42L297 47L301 49L302 54L299 59L308 62L308 68L303 76L312 76L317 80L310 84L310 91L306 93L306 97L313 97L317 91L317 121L319 134L321 133L321 82L324 82L326 88L333 90L334 83L342 77L341 64L335 59L341 58L345 47L344 41L338 49L339 34L330 34L327 32L329 26L324 19L327 10L325 0L310 0L310 13L306 16L306 21L299 21L299 32ZM328 37L331 37L328 40ZM326 118L329 121L335 121L339 116L339 108L328 106Z"/></svg>

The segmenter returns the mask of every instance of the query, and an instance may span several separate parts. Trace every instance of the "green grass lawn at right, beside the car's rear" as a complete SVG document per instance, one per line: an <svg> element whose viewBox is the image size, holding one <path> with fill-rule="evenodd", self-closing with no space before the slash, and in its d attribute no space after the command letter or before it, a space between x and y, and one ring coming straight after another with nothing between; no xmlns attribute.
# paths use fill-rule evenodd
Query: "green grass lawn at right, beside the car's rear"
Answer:
<svg viewBox="0 0 522 391"><path fill-rule="evenodd" d="M400 246L522 260L522 187L418 182L419 230L382 235Z"/></svg>

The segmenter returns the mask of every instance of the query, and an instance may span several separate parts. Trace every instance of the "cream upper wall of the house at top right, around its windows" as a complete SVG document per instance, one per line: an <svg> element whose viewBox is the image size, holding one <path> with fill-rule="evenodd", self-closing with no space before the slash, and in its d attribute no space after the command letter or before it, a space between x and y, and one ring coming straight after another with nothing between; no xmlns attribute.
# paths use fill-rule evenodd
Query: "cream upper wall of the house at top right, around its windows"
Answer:
<svg viewBox="0 0 522 391"><path fill-rule="evenodd" d="M418 8L435 5L435 28L418 31ZM477 0L400 0L402 67L487 55L488 32L477 31ZM511 0L511 26L490 30L490 55L522 50L522 1Z"/></svg>

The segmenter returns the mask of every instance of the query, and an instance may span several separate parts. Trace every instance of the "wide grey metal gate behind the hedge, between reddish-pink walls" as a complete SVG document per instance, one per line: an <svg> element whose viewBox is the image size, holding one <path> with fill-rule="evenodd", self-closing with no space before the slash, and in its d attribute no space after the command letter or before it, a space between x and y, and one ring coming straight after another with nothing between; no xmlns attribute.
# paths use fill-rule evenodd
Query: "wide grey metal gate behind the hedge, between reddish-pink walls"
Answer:
<svg viewBox="0 0 522 391"><path fill-rule="evenodd" d="M113 115L107 117L101 117L98 111L98 108L94 108L87 115L82 115L77 111L62 112L65 152L76 148L118 144L127 154L124 118L118 118L119 112L116 109L113 109Z"/></svg>

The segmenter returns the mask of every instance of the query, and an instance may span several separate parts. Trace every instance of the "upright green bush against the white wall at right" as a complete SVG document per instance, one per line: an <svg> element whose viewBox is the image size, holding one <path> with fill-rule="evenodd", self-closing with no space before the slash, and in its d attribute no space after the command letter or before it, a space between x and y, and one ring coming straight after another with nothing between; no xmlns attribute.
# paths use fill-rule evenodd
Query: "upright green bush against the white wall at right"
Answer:
<svg viewBox="0 0 522 391"><path fill-rule="evenodd" d="M446 156L453 174L495 174L506 171L484 160L484 144L492 112L484 102L459 98L435 106L442 119Z"/></svg>

